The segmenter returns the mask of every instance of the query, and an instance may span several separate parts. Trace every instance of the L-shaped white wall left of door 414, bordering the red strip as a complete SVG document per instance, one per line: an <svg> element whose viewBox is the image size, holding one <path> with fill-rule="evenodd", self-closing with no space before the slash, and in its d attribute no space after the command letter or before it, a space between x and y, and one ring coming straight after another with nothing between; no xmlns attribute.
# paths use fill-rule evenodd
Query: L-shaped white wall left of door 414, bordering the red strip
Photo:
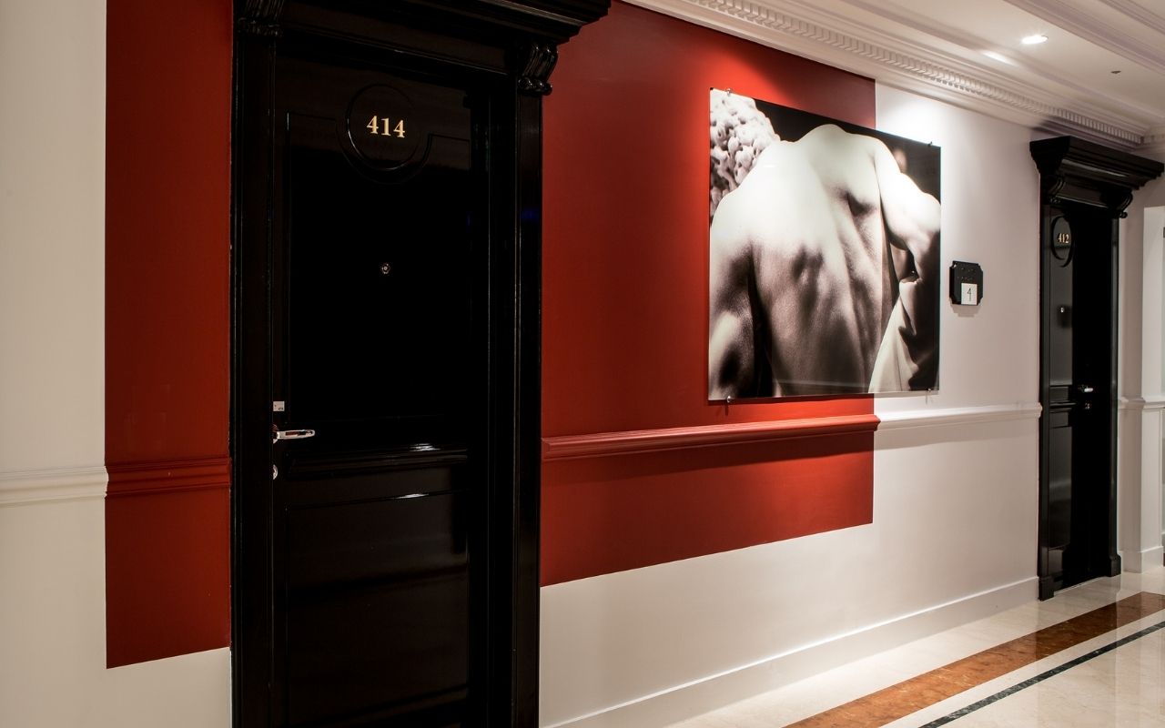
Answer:
<svg viewBox="0 0 1165 728"><path fill-rule="evenodd" d="M105 669L105 3L0 0L0 726L228 726L227 650Z"/></svg>

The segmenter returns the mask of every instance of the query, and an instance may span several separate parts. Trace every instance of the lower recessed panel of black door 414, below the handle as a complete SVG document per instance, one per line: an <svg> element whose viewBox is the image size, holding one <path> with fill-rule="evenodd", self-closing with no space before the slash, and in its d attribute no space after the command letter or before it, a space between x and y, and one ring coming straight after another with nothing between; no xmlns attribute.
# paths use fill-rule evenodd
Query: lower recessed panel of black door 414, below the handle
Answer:
<svg viewBox="0 0 1165 728"><path fill-rule="evenodd" d="M447 493L288 513L290 725L464 702L469 585L458 533L466 499Z"/></svg>

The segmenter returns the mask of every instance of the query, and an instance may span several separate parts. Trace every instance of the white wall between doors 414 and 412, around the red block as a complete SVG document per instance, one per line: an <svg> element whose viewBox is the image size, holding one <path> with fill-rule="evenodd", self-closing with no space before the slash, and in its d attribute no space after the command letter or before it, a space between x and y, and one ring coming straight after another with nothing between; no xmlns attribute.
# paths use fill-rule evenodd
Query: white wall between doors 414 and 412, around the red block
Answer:
<svg viewBox="0 0 1165 728"><path fill-rule="evenodd" d="M942 147L942 274L986 280L941 304L941 391L876 402L874 522L543 588L544 726L665 725L1035 599L1031 135L883 87L877 118Z"/></svg>

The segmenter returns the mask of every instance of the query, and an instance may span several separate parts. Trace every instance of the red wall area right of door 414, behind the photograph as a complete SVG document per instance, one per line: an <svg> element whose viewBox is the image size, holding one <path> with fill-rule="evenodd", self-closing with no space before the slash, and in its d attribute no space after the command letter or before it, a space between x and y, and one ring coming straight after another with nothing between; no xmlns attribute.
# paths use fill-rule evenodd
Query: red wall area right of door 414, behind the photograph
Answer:
<svg viewBox="0 0 1165 728"><path fill-rule="evenodd" d="M708 403L707 210L709 87L871 127L874 82L617 1L551 80L544 437L873 419L867 397ZM871 430L544 460L543 582L869 523Z"/></svg>

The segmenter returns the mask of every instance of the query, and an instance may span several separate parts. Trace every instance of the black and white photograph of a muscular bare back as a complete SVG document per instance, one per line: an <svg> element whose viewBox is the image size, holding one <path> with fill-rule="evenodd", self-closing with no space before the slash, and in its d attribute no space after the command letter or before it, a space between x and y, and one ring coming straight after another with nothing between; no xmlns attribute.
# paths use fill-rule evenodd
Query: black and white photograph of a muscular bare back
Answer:
<svg viewBox="0 0 1165 728"><path fill-rule="evenodd" d="M939 148L709 106L708 398L937 389Z"/></svg>

